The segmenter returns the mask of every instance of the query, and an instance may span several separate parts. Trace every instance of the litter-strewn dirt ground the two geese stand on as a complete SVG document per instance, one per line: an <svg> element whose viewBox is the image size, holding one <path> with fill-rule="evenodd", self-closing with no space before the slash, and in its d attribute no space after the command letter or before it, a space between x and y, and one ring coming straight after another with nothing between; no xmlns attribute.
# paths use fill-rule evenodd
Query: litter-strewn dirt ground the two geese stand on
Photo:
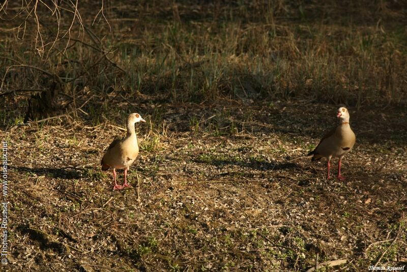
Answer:
<svg viewBox="0 0 407 272"><path fill-rule="evenodd" d="M405 108L349 109L357 143L344 159L342 182L326 180L325 159L305 157L335 124L332 105L131 102L117 101L123 116L138 112L148 122L136 125L133 188L121 192L112 191L112 173L101 171L100 159L124 135L122 117L93 124L82 114L3 128L11 164L6 270L303 271L346 260L326 269L362 271L377 261L407 264Z"/></svg>

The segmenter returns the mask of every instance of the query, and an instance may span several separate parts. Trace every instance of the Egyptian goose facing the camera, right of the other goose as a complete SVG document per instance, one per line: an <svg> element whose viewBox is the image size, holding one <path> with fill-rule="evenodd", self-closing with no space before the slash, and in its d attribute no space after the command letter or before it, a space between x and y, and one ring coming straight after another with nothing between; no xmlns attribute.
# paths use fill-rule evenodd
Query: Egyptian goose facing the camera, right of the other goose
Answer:
<svg viewBox="0 0 407 272"><path fill-rule="evenodd" d="M339 118L339 125L334 129L329 131L322 139L319 141L317 147L308 153L313 155L312 161L321 159L322 157L328 160L328 179L329 175L329 162L332 157L338 157L338 179L344 180L345 178L340 174L340 166L342 163L342 158L352 150L355 145L356 137L349 124L349 112L347 108L338 108L337 118Z"/></svg>

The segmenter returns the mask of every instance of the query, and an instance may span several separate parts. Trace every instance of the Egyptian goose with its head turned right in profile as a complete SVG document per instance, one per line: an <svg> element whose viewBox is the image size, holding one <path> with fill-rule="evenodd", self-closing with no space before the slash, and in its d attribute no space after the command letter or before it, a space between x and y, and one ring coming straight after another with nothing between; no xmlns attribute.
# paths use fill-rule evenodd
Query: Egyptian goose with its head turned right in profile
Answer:
<svg viewBox="0 0 407 272"><path fill-rule="evenodd" d="M106 171L110 167L113 168L114 187L113 190L121 190L125 187L131 187L127 183L127 170L138 155L137 135L134 129L134 124L137 122L146 122L139 114L130 114L127 118L127 136L122 140L114 140L111 142L103 155L101 166L102 170ZM118 185L116 181L116 169L124 168L124 184Z"/></svg>

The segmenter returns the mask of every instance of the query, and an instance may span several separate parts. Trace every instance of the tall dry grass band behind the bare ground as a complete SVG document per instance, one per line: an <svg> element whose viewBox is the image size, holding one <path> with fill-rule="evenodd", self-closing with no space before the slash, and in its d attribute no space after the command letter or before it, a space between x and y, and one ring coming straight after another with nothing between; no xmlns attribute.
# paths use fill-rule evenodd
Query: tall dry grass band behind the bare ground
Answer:
<svg viewBox="0 0 407 272"><path fill-rule="evenodd" d="M41 49L42 58L27 53L33 48L30 34L38 29L34 18L23 20L23 40L15 40L15 32L3 36L0 92L47 89L59 76L62 92L71 97L88 86L103 94L162 93L173 102L219 96L302 96L358 107L406 101L407 16L399 4L182 2L105 8L112 32L104 21L91 26L94 15L86 5L78 10L80 21L67 13L69 23L59 28L44 11L40 29L49 46ZM14 15L9 9L8 16ZM20 17L5 25L13 29L26 18ZM68 30L69 39L63 35ZM24 100L18 102L24 106Z"/></svg>

